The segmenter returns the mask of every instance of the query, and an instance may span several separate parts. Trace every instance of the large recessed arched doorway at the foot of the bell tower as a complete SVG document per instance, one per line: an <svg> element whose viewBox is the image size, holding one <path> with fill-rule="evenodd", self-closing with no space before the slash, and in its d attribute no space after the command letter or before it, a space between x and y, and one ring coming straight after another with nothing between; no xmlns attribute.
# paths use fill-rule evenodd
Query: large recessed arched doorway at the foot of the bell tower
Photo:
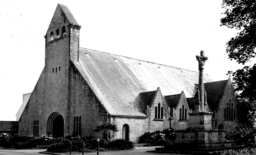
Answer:
<svg viewBox="0 0 256 155"><path fill-rule="evenodd" d="M64 137L64 119L58 112L53 112L48 120L46 126L47 135L53 137Z"/></svg>

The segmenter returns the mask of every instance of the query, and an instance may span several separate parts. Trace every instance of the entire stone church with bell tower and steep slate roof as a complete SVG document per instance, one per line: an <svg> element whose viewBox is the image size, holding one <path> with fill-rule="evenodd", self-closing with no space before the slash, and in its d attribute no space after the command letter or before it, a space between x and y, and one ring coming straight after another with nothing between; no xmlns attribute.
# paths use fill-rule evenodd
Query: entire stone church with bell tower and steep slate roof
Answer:
<svg viewBox="0 0 256 155"><path fill-rule="evenodd" d="M68 7L58 4L45 35L45 65L20 119L19 136L101 135L99 122L116 124L114 138L138 142L144 132L185 130L195 109L198 72L79 46ZM196 58L195 58L196 61ZM230 78L204 74L212 129L235 130L236 96Z"/></svg>

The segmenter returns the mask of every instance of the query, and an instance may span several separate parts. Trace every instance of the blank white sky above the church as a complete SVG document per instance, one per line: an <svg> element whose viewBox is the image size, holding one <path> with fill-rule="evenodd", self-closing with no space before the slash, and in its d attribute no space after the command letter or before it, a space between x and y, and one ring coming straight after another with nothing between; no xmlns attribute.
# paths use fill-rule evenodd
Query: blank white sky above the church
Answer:
<svg viewBox="0 0 256 155"><path fill-rule="evenodd" d="M80 29L80 47L198 71L227 80L242 68L225 43L237 31L220 27L222 0L0 0L0 120L15 121L22 94L44 68L44 35L57 4L68 5ZM68 4L67 4L68 3Z"/></svg>

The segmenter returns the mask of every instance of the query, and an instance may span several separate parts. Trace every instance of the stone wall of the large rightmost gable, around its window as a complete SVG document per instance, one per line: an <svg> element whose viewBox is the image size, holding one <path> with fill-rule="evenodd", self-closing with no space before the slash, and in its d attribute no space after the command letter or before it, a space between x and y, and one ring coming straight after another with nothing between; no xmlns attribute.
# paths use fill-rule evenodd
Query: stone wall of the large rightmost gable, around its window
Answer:
<svg viewBox="0 0 256 155"><path fill-rule="evenodd" d="M227 103L229 103L229 99L231 100L231 103L233 103L233 108L236 109L237 100L231 80L228 80L227 82L224 94L219 102L218 111L215 114L215 118L217 119L216 128L218 129L218 125L222 123L224 125L224 130L227 130L227 133L236 130L236 126L242 126L241 123L238 123L237 110L236 120L224 120L224 109L227 108Z"/></svg>

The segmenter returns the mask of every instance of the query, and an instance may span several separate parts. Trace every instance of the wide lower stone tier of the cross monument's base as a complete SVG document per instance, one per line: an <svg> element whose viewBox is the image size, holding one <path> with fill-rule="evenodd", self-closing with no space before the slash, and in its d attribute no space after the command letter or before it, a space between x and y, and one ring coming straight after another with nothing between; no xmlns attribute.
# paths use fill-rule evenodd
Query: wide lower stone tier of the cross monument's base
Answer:
<svg viewBox="0 0 256 155"><path fill-rule="evenodd" d="M190 131L178 130L176 131L175 144L190 143L197 147L212 147L212 144L226 143L225 139L226 130L200 130L191 129ZM211 146L212 145L212 146Z"/></svg>

